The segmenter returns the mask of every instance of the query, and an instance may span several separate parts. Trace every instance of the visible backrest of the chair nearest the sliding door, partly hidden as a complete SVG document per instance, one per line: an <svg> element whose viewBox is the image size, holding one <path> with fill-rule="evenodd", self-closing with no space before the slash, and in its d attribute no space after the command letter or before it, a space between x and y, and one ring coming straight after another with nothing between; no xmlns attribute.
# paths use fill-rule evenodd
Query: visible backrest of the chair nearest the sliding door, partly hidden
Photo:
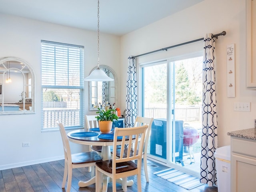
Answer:
<svg viewBox="0 0 256 192"><path fill-rule="evenodd" d="M144 154L147 153L148 139L149 139L149 135L150 135L151 126L152 126L153 121L154 121L154 118L147 118L147 117L137 116L136 120L135 120L135 123L134 123L134 127L142 126L142 125L148 125L145 140L144 140L144 148L143 148Z"/></svg>

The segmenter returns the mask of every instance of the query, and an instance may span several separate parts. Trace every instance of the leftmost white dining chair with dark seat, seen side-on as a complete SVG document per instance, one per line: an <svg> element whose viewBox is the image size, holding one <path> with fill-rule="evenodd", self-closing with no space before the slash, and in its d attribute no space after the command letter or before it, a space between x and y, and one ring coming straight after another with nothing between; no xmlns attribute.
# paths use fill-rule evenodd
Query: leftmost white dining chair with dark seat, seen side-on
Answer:
<svg viewBox="0 0 256 192"><path fill-rule="evenodd" d="M94 167L95 162L102 160L102 157L95 151L71 154L68 136L66 134L65 128L59 120L56 120L56 123L60 128L60 134L61 134L63 147L64 147L65 165L64 165L64 176L62 181L62 188L65 188L66 179L68 177L66 191L70 192L71 180L72 180L72 169L82 168L82 167Z"/></svg>

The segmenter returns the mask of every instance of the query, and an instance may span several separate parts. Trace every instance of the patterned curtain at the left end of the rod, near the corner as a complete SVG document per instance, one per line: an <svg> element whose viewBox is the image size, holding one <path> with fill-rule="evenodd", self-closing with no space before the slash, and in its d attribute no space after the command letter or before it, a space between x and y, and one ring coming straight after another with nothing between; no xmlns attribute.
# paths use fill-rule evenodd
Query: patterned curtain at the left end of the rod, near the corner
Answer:
<svg viewBox="0 0 256 192"><path fill-rule="evenodd" d="M136 59L128 58L128 72L126 82L126 107L125 124L126 127L133 127L137 116L137 77L136 77Z"/></svg>

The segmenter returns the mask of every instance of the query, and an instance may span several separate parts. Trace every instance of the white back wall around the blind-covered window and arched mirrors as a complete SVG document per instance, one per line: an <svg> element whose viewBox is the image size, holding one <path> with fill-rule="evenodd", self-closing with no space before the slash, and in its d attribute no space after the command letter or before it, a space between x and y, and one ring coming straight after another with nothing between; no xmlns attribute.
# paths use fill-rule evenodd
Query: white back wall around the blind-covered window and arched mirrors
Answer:
<svg viewBox="0 0 256 192"><path fill-rule="evenodd" d="M36 75L36 113L0 116L0 170L63 158L60 132L41 132L41 40L84 46L84 76L97 66L97 32L0 14L0 58L13 56L30 64ZM100 33L100 64L120 79L120 37ZM88 82L85 82L85 114ZM30 142L30 147L22 147ZM74 152L81 150L72 144Z"/></svg>

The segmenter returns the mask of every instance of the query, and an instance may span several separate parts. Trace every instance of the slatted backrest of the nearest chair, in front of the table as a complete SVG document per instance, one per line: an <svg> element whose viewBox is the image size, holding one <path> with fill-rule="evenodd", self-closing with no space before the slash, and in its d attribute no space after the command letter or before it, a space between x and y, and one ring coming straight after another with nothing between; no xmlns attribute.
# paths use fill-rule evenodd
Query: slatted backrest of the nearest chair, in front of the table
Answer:
<svg viewBox="0 0 256 192"><path fill-rule="evenodd" d="M113 157L116 157L116 149L118 144L117 139L121 139L122 136L122 144L120 148L120 158L116 157L112 159L112 173L116 174L116 163L127 162L132 160L137 161L137 167L141 167L141 160L142 160L142 150L144 143L140 142L140 140L144 141L146 136L146 130L148 125L138 126L138 127L131 127L131 128L115 128L114 131L114 145L113 145ZM135 139L133 139L135 138ZM128 145L126 143L128 141ZM120 140L119 140L120 141ZM127 150L124 150L127 147ZM132 148L136 151L138 149L138 153L134 152L132 155ZM127 154L124 152L127 151Z"/></svg>

